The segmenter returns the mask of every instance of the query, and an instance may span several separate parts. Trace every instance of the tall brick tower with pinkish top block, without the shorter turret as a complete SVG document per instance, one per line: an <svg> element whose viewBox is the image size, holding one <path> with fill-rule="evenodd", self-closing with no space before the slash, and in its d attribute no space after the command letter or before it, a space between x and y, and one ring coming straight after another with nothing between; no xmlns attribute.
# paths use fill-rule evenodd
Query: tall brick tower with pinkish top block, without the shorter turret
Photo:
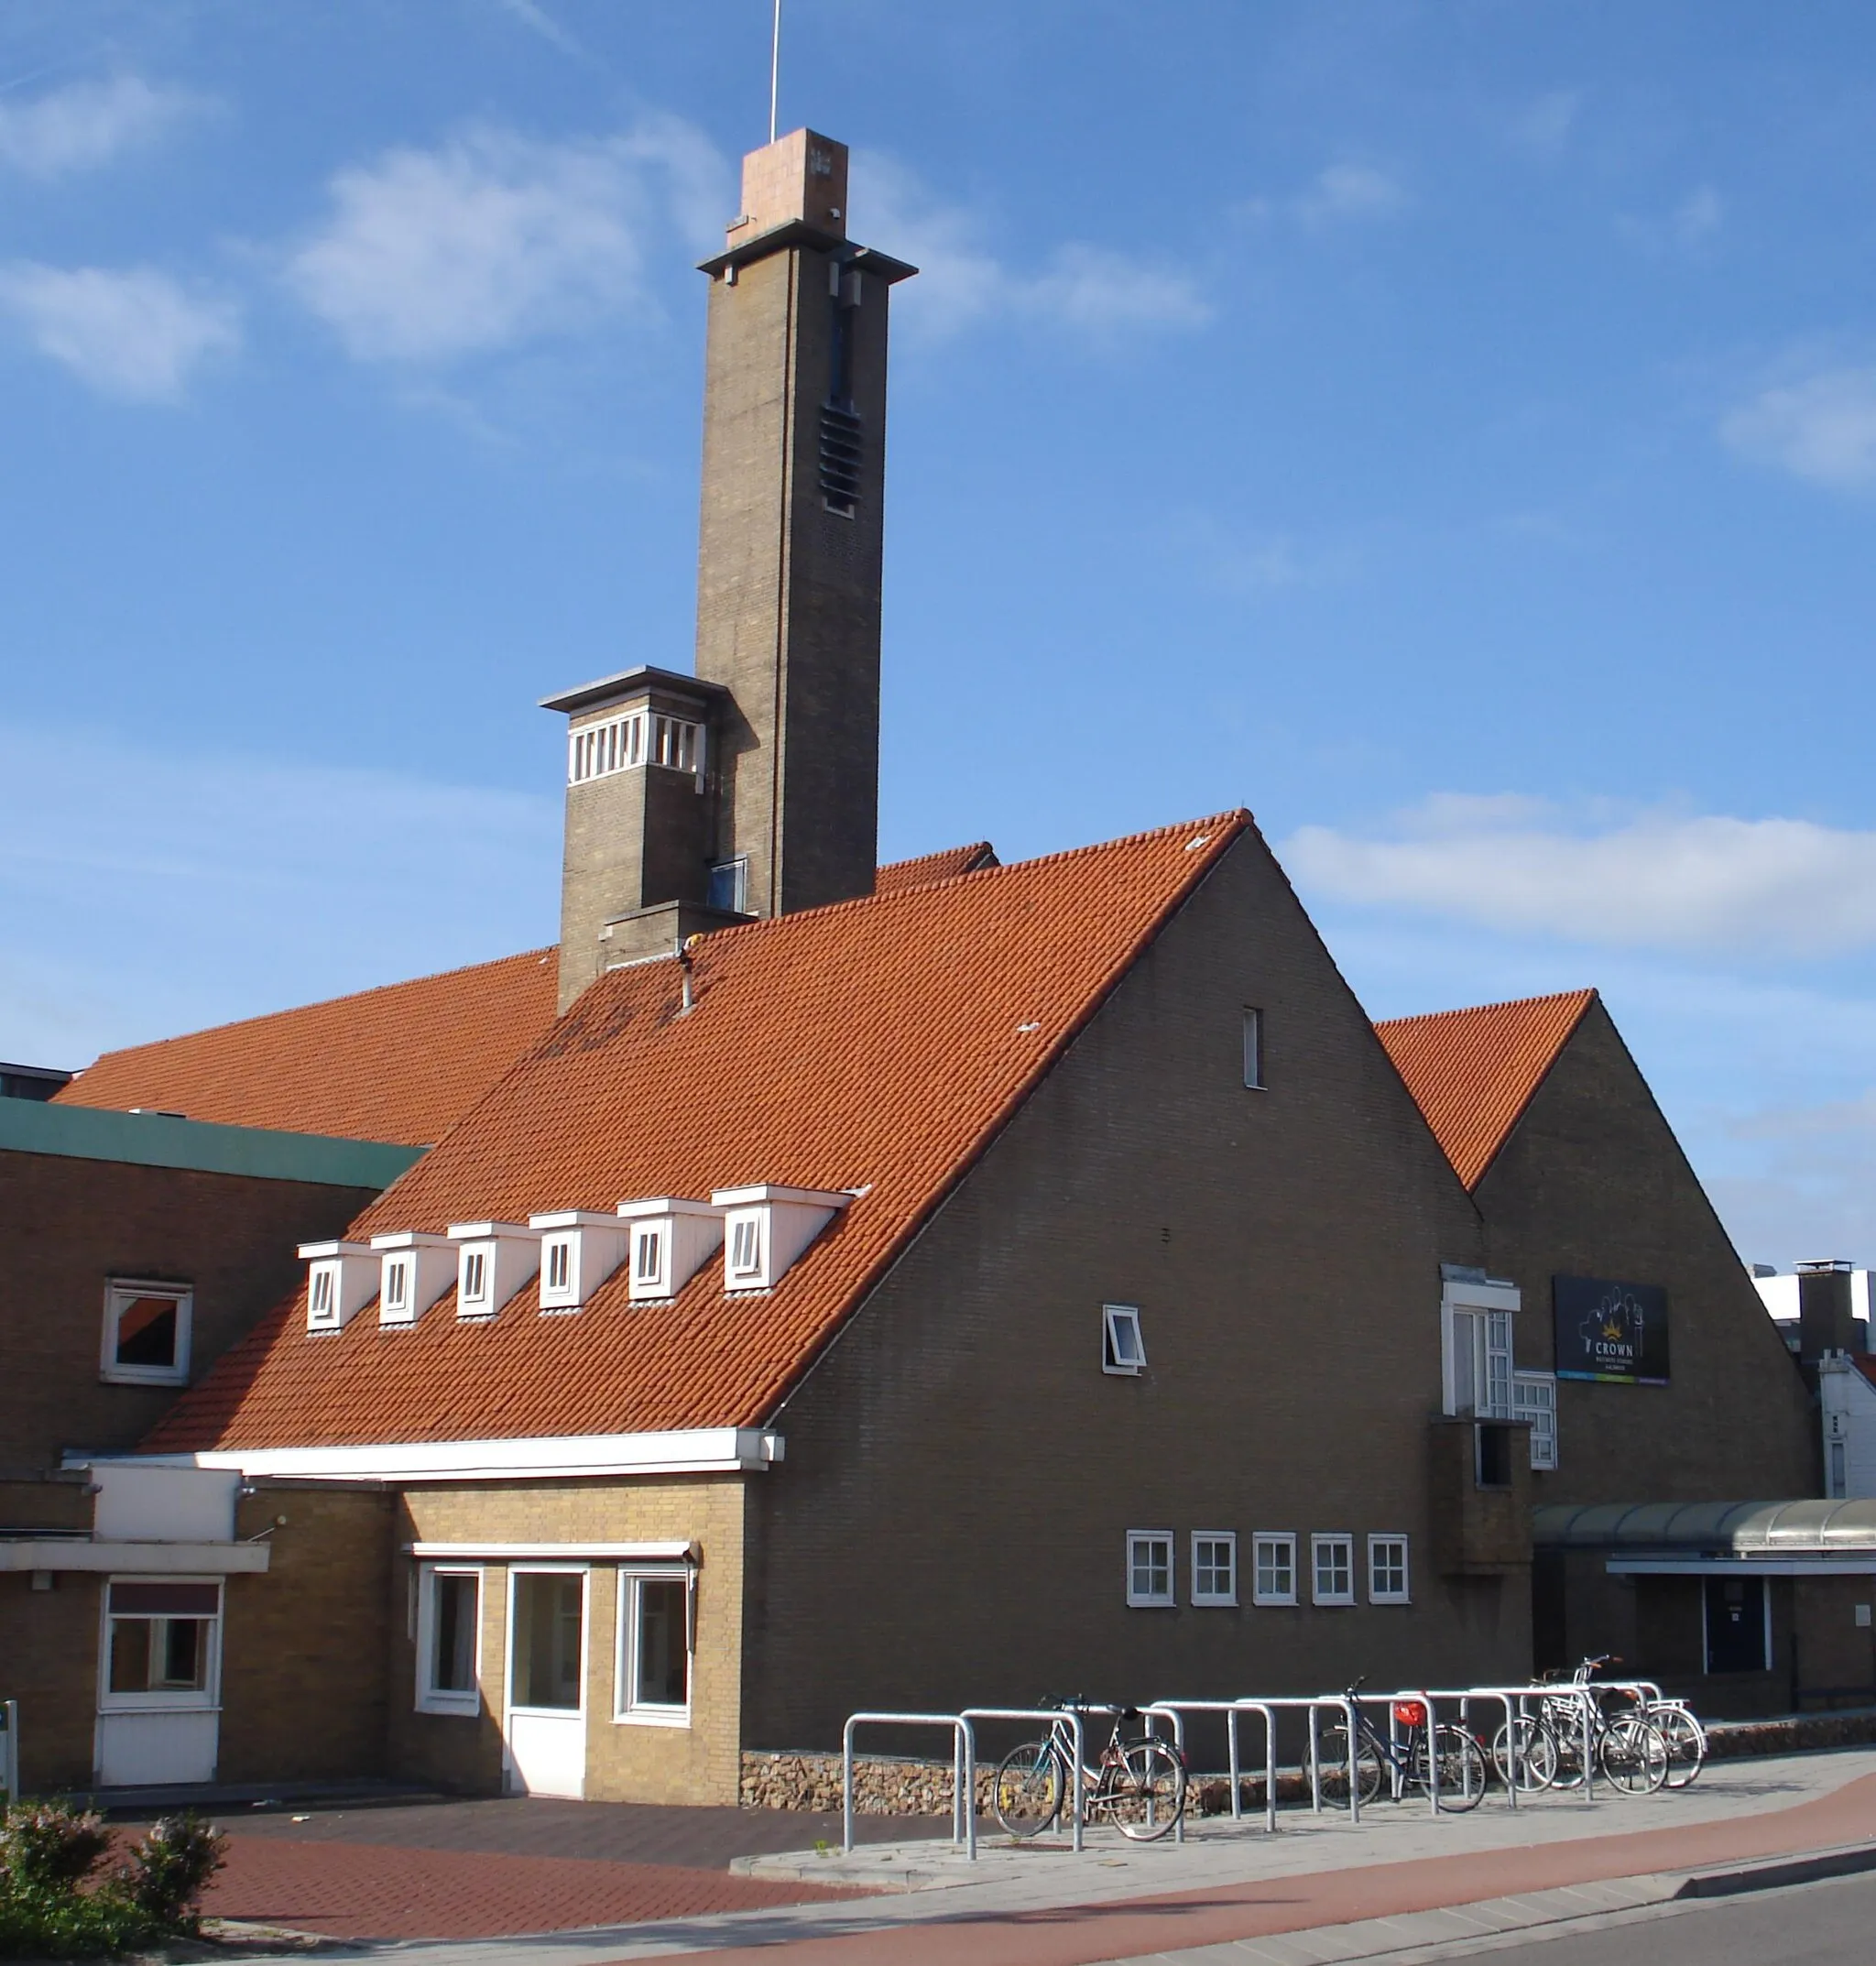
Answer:
<svg viewBox="0 0 1876 1966"><path fill-rule="evenodd" d="M704 261L696 672L733 700L718 895L751 914L873 891L887 295L912 267L850 244L846 212L846 145L796 130L743 159Z"/></svg>

